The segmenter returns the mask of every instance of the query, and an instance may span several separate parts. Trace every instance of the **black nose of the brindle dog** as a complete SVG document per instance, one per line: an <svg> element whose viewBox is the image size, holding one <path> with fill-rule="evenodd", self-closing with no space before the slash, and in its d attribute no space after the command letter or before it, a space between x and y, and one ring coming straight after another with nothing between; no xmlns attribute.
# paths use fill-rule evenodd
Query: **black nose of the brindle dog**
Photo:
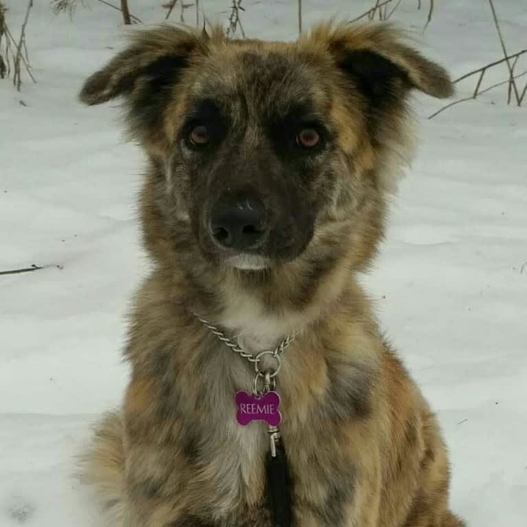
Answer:
<svg viewBox="0 0 527 527"><path fill-rule="evenodd" d="M221 198L213 207L211 235L221 247L239 251L255 248L265 232L266 207L257 198Z"/></svg>

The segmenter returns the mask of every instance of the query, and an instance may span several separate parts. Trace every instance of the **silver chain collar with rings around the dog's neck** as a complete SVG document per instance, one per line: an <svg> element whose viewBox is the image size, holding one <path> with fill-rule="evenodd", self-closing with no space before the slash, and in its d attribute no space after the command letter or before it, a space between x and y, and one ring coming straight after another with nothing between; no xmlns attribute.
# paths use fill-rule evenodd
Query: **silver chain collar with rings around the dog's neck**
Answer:
<svg viewBox="0 0 527 527"><path fill-rule="evenodd" d="M288 337L284 338L275 349L264 350L258 353L257 355L252 355L252 353L248 353L247 351L241 349L241 347L239 347L236 342L228 338L225 333L221 331L217 326L211 324L211 322L208 322L208 320L200 317L196 313L194 313L194 316L197 318L197 320L200 320L200 322L202 322L205 327L208 327L208 329L210 329L212 333L217 336L218 340L223 342L228 348L230 348L231 351L239 355L241 358L246 359L252 364L252 366L254 366L255 380L252 383L252 392L255 396L264 395L268 391L275 389L277 375L281 368L280 357L282 353L286 350L286 348L289 346L289 344L291 344L291 342L297 336L296 333L292 333ZM266 357L266 355L272 357L272 359L275 361L275 364L270 367L267 367L266 369L261 369L261 362L263 362L264 357ZM262 390L258 389L258 384L260 381L264 384Z"/></svg>

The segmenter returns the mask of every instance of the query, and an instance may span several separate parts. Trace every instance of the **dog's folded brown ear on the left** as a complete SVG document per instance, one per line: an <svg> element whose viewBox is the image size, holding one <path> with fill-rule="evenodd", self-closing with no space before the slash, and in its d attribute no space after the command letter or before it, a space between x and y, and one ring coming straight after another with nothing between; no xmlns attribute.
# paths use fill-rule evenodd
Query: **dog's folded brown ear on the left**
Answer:
<svg viewBox="0 0 527 527"><path fill-rule="evenodd" d="M169 25L138 31L129 48L87 79L80 101L95 105L118 96L158 97L178 80L193 54L206 52L207 41L204 32Z"/></svg>

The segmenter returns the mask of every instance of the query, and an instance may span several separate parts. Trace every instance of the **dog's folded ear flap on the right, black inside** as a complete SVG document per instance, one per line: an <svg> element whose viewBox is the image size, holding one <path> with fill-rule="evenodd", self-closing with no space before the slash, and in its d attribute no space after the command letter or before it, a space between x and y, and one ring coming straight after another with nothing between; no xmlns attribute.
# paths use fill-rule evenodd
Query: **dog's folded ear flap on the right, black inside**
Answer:
<svg viewBox="0 0 527 527"><path fill-rule="evenodd" d="M325 40L336 65L350 76L374 105L411 88L443 99L451 96L449 74L403 42L389 25L320 25L312 34Z"/></svg>

